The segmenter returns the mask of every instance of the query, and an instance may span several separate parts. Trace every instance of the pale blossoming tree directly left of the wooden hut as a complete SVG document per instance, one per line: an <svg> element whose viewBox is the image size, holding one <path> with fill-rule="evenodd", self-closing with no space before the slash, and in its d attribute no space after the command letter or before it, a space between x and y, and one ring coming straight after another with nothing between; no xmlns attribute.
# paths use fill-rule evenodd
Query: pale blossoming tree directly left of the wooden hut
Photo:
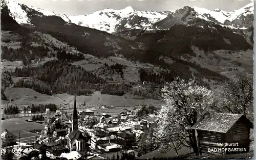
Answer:
<svg viewBox="0 0 256 160"><path fill-rule="evenodd" d="M182 146L197 153L195 130L190 129L204 112L210 112L216 104L214 93L197 84L193 77L185 82L179 77L162 88L162 106L158 115L155 139L161 148L173 148L178 156Z"/></svg>

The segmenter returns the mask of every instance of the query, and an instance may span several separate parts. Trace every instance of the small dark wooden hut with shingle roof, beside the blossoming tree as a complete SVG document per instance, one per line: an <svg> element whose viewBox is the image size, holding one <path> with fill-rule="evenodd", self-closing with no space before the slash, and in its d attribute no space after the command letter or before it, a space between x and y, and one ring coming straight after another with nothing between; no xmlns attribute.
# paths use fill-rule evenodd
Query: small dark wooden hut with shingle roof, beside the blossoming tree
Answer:
<svg viewBox="0 0 256 160"><path fill-rule="evenodd" d="M253 124L241 114L207 113L196 129L199 150L208 154L248 152ZM229 146L232 145L232 146Z"/></svg>

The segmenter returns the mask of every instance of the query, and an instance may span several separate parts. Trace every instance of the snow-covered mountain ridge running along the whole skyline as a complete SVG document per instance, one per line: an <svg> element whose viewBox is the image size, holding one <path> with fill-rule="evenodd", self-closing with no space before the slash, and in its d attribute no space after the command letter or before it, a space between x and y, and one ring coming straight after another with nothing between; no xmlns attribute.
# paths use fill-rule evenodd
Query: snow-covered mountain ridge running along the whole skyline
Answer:
<svg viewBox="0 0 256 160"><path fill-rule="evenodd" d="M14 0L2 0L2 4L9 6L11 15L19 24L31 24L26 10L23 10L19 3ZM1 5L2 6L2 5ZM131 6L121 10L102 9L92 14L68 16L65 14L56 14L45 9L27 6L41 12L45 16L59 16L68 23L86 26L88 28L97 29L100 31L115 34L121 30L142 30L156 31L165 30L156 26L156 23L161 23L162 20L169 17L175 17L179 10L190 8L191 12L195 12L194 16L199 19L218 23L223 26L228 26L230 29L248 29L252 25L254 4L250 3L238 10L231 12L215 9L213 11L199 7L188 7L174 11L136 11Z"/></svg>

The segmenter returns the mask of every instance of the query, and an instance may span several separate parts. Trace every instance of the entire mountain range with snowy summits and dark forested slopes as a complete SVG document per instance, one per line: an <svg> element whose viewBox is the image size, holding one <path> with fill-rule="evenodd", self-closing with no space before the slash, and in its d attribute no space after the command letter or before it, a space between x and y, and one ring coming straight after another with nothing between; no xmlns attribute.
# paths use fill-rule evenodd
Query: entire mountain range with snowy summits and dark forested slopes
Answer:
<svg viewBox="0 0 256 160"><path fill-rule="evenodd" d="M10 87L4 82L45 94L100 91L156 98L158 88L140 84L159 87L176 76L194 75L215 88L239 71L252 74L253 3L232 12L126 7L68 16L1 2L2 59L21 61L24 68L6 68L2 87Z"/></svg>

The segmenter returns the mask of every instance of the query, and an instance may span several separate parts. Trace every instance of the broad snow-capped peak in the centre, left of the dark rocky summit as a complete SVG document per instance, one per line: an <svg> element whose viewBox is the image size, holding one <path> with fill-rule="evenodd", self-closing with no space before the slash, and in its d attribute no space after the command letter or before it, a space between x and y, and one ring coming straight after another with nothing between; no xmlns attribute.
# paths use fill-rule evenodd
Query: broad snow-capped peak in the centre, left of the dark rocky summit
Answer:
<svg viewBox="0 0 256 160"><path fill-rule="evenodd" d="M167 17L169 12L103 9L89 15L69 16L72 23L113 33L117 28L144 29Z"/></svg>

